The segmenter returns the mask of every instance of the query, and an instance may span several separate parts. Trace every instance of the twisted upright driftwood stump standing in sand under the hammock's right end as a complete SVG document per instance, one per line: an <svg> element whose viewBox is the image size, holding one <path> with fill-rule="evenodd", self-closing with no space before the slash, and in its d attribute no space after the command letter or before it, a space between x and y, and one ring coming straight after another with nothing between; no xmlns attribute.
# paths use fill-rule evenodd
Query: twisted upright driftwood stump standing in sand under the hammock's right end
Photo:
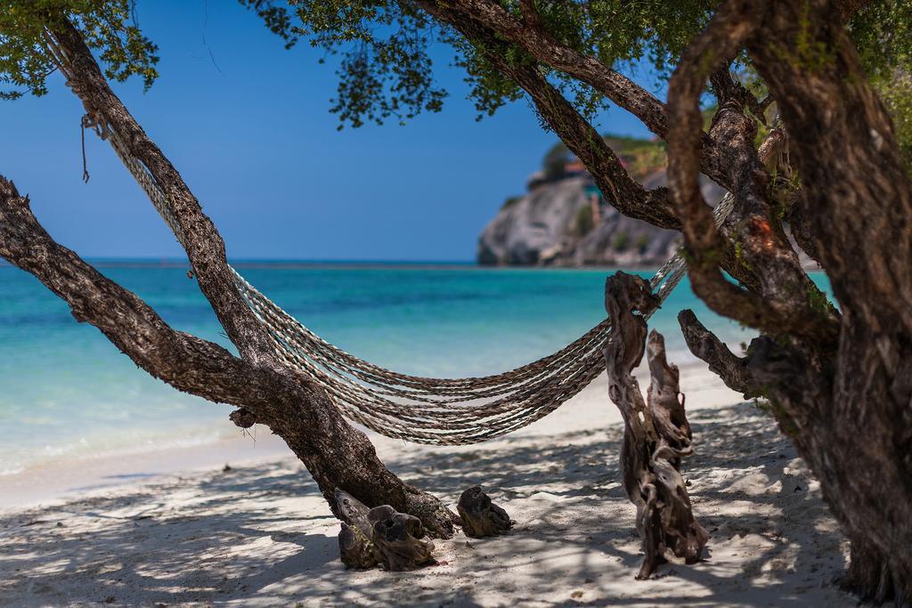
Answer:
<svg viewBox="0 0 912 608"><path fill-rule="evenodd" d="M624 417L624 488L637 505L637 531L645 553L638 579L648 578L665 562L666 550L687 563L698 562L709 539L693 516L679 472L681 459L693 451L690 426L683 396L679 397L678 368L668 364L665 341L658 332L649 335L648 404L632 376L646 345L643 315L657 306L644 279L620 272L608 277L605 307L612 321L605 348L608 393Z"/></svg>

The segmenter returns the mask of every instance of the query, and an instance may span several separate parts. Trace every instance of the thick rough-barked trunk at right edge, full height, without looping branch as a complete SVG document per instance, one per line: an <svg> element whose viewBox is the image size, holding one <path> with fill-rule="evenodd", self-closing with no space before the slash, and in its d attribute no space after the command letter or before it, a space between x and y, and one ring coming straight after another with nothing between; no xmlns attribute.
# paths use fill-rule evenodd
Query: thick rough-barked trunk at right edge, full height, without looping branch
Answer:
<svg viewBox="0 0 912 608"><path fill-rule="evenodd" d="M912 602L912 182L838 5L784 3L749 45L790 125L802 214L843 310L838 352L785 417L852 541L846 584ZM822 377L821 377L822 376ZM826 390L826 389L829 390Z"/></svg>

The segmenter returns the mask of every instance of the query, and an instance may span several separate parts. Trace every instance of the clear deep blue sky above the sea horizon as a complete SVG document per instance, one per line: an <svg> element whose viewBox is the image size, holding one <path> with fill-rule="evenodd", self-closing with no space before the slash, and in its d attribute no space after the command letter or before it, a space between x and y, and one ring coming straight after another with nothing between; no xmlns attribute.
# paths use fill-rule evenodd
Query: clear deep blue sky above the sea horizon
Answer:
<svg viewBox="0 0 912 608"><path fill-rule="evenodd" d="M160 46L161 77L145 94L139 80L115 91L233 258L470 261L484 224L523 192L556 141L525 101L476 122L461 72L445 62L436 73L451 95L439 114L338 131L328 112L336 77L317 63L322 51L286 51L230 0L140 0L139 18ZM91 179L82 183L81 104L58 75L50 89L0 102L0 174L83 256L180 257L108 144L88 132ZM598 128L648 136L619 108Z"/></svg>

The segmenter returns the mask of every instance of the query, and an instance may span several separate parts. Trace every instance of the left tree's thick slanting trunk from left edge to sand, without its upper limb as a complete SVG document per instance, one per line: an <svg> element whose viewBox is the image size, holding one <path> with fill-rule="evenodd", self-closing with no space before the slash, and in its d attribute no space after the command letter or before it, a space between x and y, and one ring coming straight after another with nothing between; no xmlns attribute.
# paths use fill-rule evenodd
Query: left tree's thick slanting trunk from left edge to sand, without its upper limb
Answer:
<svg viewBox="0 0 912 608"><path fill-rule="evenodd" d="M28 200L0 178L0 256L69 304L79 321L98 327L151 376L214 402L241 406L232 418L262 422L285 439L311 472L337 517L337 489L370 506L388 504L420 518L435 536L452 534L452 515L430 494L403 482L377 458L367 436L347 424L322 390L286 370L254 366L218 345L175 332L135 294L54 242Z"/></svg>

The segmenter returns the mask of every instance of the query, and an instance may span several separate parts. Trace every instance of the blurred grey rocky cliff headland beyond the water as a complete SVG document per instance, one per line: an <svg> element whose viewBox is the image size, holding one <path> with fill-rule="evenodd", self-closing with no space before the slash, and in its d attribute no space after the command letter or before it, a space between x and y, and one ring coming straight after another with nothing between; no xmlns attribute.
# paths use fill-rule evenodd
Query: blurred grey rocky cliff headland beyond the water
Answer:
<svg viewBox="0 0 912 608"><path fill-rule="evenodd" d="M664 169L642 179L647 188L666 183ZM709 180L708 201L724 192ZM631 220L598 196L585 172L536 179L522 197L507 201L478 240L486 265L655 266L679 246L679 232Z"/></svg>

